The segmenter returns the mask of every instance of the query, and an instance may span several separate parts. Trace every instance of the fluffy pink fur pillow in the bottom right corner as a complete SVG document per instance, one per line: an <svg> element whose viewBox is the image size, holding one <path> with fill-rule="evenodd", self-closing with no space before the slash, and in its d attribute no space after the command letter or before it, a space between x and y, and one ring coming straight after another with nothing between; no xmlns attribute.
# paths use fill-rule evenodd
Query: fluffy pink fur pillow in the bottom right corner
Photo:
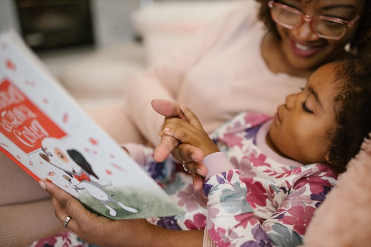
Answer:
<svg viewBox="0 0 371 247"><path fill-rule="evenodd" d="M365 139L359 154L340 175L337 187L315 212L304 246L371 246L370 139Z"/></svg>

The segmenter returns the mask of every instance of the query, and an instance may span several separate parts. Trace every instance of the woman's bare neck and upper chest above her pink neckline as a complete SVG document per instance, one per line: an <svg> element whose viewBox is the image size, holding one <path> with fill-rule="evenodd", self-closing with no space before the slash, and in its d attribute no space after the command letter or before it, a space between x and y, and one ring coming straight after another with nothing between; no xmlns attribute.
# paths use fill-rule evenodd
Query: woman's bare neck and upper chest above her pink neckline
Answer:
<svg viewBox="0 0 371 247"><path fill-rule="evenodd" d="M268 32L263 38L261 54L267 67L275 74L286 73L291 76L307 78L312 70L298 70L288 63L277 37Z"/></svg>

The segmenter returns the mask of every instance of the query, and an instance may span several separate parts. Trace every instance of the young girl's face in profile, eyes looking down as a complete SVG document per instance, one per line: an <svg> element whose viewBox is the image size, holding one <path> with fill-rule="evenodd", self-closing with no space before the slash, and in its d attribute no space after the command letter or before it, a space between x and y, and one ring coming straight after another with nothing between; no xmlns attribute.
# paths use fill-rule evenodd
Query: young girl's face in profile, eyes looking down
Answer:
<svg viewBox="0 0 371 247"><path fill-rule="evenodd" d="M317 69L305 88L278 106L267 142L278 153L303 164L324 163L328 135L336 127L333 77L336 63ZM271 143L270 143L271 142Z"/></svg>

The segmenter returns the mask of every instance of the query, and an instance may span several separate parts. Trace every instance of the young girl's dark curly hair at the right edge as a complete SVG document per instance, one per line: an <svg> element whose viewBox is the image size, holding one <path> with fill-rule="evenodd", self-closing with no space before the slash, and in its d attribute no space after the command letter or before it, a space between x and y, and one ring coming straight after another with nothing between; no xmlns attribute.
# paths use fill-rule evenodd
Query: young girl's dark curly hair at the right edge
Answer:
<svg viewBox="0 0 371 247"><path fill-rule="evenodd" d="M329 131L327 161L335 172L346 165L360 150L371 131L371 64L370 53L357 59L346 59L336 67L334 78L334 115L337 128Z"/></svg>

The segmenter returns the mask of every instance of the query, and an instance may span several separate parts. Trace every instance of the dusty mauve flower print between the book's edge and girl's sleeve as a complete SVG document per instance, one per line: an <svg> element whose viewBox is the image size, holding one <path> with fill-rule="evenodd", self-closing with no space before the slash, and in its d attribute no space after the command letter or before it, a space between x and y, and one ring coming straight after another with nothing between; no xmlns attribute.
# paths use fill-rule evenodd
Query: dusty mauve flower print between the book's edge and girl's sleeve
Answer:
<svg viewBox="0 0 371 247"><path fill-rule="evenodd" d="M202 191L195 191L192 184L189 184L184 191L178 193L179 206L185 206L188 212L196 210L198 207L206 207L207 199Z"/></svg>

